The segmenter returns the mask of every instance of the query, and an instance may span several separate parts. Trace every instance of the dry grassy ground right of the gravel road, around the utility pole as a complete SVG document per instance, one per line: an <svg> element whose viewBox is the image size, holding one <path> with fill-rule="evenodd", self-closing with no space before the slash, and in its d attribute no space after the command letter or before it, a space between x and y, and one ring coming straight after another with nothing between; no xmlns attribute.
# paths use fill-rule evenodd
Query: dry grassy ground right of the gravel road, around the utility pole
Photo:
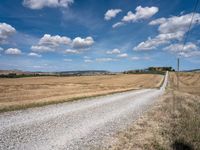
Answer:
<svg viewBox="0 0 200 150"><path fill-rule="evenodd" d="M199 150L200 73L170 73L166 93L125 131L111 139L114 150Z"/></svg>

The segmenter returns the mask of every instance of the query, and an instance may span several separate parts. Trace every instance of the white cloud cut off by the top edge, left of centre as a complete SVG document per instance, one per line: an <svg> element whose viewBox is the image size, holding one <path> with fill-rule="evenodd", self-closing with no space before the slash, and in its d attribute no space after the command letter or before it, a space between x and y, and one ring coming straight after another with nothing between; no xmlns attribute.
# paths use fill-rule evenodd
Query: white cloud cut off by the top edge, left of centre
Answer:
<svg viewBox="0 0 200 150"><path fill-rule="evenodd" d="M23 5L30 9L42 9L44 7L64 7L67 8L74 0L24 0Z"/></svg>

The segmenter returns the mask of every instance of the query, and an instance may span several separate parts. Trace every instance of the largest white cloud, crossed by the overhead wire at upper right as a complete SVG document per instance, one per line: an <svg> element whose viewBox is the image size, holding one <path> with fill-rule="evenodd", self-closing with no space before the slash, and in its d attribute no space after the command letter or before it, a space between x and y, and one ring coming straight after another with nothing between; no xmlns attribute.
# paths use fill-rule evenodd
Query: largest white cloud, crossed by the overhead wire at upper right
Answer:
<svg viewBox="0 0 200 150"><path fill-rule="evenodd" d="M158 18L151 21L149 25L158 25L159 34L154 38L148 38L148 40L139 43L133 50L152 50L174 40L181 41L185 33L188 32L191 18L192 13L169 18ZM200 24L200 14L194 13L193 19L191 28Z"/></svg>

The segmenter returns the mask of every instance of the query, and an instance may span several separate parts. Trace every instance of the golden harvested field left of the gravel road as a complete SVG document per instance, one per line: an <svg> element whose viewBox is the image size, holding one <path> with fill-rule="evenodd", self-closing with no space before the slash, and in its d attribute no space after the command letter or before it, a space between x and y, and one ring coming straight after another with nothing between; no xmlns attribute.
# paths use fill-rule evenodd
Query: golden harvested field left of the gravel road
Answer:
<svg viewBox="0 0 200 150"><path fill-rule="evenodd" d="M157 88L162 75L0 78L0 111L65 102L141 88Z"/></svg>

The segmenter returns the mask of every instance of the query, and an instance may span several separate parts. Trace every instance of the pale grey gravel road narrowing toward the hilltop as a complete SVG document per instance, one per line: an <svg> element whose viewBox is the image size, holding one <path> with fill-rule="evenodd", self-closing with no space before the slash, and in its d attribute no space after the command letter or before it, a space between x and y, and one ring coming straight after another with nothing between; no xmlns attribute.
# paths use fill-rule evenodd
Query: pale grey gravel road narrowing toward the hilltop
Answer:
<svg viewBox="0 0 200 150"><path fill-rule="evenodd" d="M0 114L0 149L98 149L163 94L143 89Z"/></svg>

